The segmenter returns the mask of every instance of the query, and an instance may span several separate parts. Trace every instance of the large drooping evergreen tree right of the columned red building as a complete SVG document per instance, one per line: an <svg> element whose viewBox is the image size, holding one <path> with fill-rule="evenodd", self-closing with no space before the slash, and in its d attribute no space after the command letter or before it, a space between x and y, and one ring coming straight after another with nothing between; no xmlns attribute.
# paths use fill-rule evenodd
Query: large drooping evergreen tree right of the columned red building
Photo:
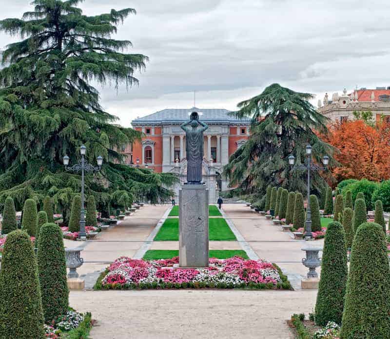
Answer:
<svg viewBox="0 0 390 339"><path fill-rule="evenodd" d="M233 114L252 120L251 137L224 167L231 186L238 185L240 191L265 192L271 184L305 193L306 172L292 171L288 157L293 154L295 165L302 163L308 143L312 145L314 161L320 162L328 155L333 163L333 148L314 133L326 133L327 118L314 109L310 99L311 94L274 83L260 95L238 103L239 110ZM318 172L313 172L311 192L320 195L326 185Z"/></svg>

